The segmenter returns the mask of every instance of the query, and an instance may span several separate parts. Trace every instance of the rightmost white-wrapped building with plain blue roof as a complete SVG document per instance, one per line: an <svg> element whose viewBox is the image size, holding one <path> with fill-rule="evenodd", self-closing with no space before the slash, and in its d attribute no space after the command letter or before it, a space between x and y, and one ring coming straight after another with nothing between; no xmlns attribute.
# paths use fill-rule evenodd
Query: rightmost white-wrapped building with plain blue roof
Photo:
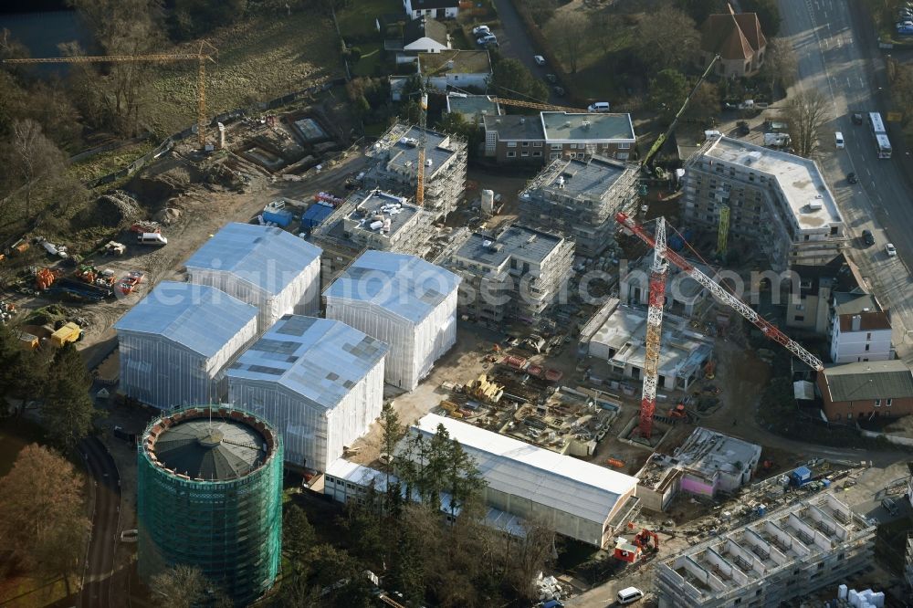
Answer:
<svg viewBox="0 0 913 608"><path fill-rule="evenodd" d="M456 342L459 282L420 257L366 251L323 292L327 319L388 344L384 381L412 391Z"/></svg>

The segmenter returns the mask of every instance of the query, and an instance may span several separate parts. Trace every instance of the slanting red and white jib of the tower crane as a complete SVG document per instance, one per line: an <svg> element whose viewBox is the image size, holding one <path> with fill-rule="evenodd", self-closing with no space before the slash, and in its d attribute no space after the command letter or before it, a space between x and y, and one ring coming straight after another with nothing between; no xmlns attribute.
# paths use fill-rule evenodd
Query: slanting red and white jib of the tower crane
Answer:
<svg viewBox="0 0 913 608"><path fill-rule="evenodd" d="M642 241L644 241L648 246L656 247L656 239L653 236L648 235L642 225L637 224L633 218L624 213L615 214L615 221L623 225L625 228L630 230L636 236L638 236ZM815 357L811 352L806 351L799 342L792 340L789 336L783 333L781 330L777 329L777 326L771 323L770 321L763 319L754 309L751 309L748 304L743 302L741 299L732 295L719 285L714 279L709 278L706 274L698 270L698 268L693 267L687 262L684 257L679 256L675 251L669 251L665 248L664 243L664 253L663 256L677 267L681 268L687 276L698 281L698 283L707 288L707 290L714 295L719 301L724 304L729 305L730 308L735 309L742 317L749 320L752 325L761 330L761 332L770 338L772 341L779 342L783 348L792 352L793 355L801 359L803 362L807 363L816 372L824 371L824 363L820 359ZM651 286L652 287L652 286ZM653 294L651 292L651 304Z"/></svg>

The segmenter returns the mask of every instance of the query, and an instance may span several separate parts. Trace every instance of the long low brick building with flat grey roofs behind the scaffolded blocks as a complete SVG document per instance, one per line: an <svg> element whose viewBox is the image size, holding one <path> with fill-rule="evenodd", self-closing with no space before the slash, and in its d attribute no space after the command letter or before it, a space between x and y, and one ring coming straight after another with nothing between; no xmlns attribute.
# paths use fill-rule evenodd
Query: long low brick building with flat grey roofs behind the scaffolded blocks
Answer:
<svg viewBox="0 0 913 608"><path fill-rule="evenodd" d="M594 154L624 161L636 143L630 114L545 111L485 117L485 154L498 163L585 160Z"/></svg>

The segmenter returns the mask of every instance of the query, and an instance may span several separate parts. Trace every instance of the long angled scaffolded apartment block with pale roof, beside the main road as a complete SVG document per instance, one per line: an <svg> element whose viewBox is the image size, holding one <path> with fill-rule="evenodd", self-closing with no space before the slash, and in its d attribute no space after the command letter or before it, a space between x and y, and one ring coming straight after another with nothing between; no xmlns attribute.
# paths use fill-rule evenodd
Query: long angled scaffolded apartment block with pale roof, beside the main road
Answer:
<svg viewBox="0 0 913 608"><path fill-rule="evenodd" d="M714 229L729 207L729 242L748 239L772 269L823 266L844 245L845 226L818 165L719 137L687 162L682 212Z"/></svg>

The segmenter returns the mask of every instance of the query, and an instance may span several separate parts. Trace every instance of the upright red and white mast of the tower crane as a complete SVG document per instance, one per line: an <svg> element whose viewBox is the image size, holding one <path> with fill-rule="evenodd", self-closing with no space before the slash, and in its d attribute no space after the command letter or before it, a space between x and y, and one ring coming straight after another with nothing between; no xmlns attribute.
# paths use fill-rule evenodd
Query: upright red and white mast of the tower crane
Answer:
<svg viewBox="0 0 913 608"><path fill-rule="evenodd" d="M653 414L656 412L656 384L659 383L659 349L663 337L663 304L666 302L666 220L656 220L653 266L650 267L650 308L646 313L646 356L644 360L644 392L640 401L640 436L649 439L653 434Z"/></svg>

